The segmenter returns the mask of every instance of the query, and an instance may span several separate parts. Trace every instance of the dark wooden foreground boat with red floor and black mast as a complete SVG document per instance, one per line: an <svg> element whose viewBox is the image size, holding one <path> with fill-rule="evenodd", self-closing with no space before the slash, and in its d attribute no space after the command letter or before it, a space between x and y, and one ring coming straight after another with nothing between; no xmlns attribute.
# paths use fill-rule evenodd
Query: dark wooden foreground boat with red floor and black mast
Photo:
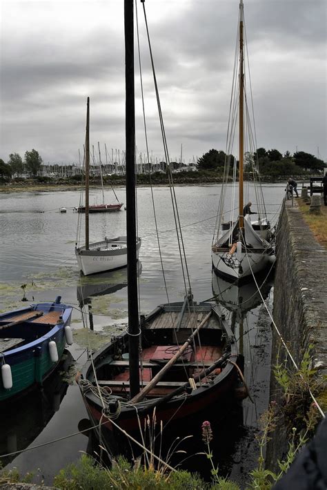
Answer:
<svg viewBox="0 0 327 490"><path fill-rule="evenodd" d="M78 380L92 426L110 454L126 453L128 434L156 411L159 421L186 422L215 406L234 403L237 344L216 304L160 304L139 318L135 218L135 101L133 1L125 2L126 196L128 199L128 330L92 354ZM200 340L201 339L201 340ZM141 349L141 351L140 351Z"/></svg>

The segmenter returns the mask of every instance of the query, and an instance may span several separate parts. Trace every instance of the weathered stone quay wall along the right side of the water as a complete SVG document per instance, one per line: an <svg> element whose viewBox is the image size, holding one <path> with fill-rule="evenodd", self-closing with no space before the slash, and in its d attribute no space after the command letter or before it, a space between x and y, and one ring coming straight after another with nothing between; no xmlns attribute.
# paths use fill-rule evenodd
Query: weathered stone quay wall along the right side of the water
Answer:
<svg viewBox="0 0 327 490"><path fill-rule="evenodd" d="M275 323L297 364L313 344L313 367L323 377L327 375L327 249L290 201L284 202L279 217L276 255Z"/></svg>

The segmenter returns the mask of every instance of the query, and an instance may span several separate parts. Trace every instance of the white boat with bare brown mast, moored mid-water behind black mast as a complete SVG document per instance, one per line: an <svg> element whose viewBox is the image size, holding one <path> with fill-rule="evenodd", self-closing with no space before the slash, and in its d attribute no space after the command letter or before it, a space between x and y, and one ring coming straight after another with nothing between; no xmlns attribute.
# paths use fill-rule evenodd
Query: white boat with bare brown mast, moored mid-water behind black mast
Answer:
<svg viewBox="0 0 327 490"><path fill-rule="evenodd" d="M112 271L127 266L127 237L104 237L101 242L89 240L89 168L90 168L90 99L88 97L86 115L86 192L85 192L85 237L84 246L75 245L75 255L79 270L83 275ZM137 237L137 249L141 246L141 239Z"/></svg>

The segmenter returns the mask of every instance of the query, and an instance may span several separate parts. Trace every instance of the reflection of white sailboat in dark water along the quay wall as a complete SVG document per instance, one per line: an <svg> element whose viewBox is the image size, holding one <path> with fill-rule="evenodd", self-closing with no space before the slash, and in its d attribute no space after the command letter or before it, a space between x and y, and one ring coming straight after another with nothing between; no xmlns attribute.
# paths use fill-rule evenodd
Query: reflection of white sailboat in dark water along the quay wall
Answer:
<svg viewBox="0 0 327 490"><path fill-rule="evenodd" d="M244 356L244 378L250 393L250 398L243 402L243 433L232 455L235 464L230 473L241 488L257 465L255 435L269 398L271 329L264 302L271 305L273 275L261 275L256 280L260 291L255 282L237 286L212 273L212 293L235 332L239 353Z"/></svg>

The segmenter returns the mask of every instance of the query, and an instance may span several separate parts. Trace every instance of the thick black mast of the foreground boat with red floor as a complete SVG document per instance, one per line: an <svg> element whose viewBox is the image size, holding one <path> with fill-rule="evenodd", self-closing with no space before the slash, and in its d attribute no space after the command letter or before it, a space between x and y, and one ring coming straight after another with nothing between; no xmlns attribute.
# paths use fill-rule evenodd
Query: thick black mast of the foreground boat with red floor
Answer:
<svg viewBox="0 0 327 490"><path fill-rule="evenodd" d="M126 227L130 398L139 393L139 305L135 206L134 0L124 0L126 84Z"/></svg>

